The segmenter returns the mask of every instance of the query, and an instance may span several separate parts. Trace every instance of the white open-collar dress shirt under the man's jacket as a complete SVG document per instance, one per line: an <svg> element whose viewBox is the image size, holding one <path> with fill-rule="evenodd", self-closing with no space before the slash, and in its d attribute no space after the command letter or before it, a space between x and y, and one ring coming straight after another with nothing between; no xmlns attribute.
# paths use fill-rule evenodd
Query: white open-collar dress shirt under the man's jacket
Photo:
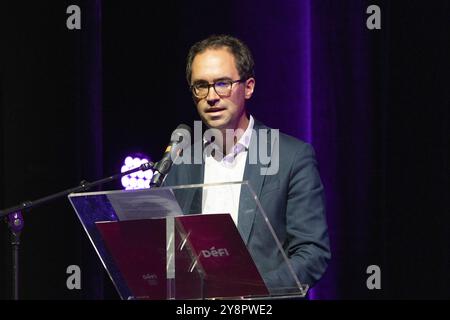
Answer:
<svg viewBox="0 0 450 320"><path fill-rule="evenodd" d="M216 157L222 159L218 161L212 155L205 157L203 183L242 181L244 178L248 147L252 137L253 124L253 117L250 116L247 129L239 141L233 146L231 152L226 156ZM229 213L237 225L240 194L240 184L203 188L202 212Z"/></svg>

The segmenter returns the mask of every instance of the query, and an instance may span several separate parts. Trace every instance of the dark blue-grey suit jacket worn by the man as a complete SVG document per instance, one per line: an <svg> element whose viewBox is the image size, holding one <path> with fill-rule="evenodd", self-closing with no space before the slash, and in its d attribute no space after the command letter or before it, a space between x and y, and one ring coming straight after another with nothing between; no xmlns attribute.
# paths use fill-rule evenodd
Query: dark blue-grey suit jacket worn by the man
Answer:
<svg viewBox="0 0 450 320"><path fill-rule="evenodd" d="M314 150L309 144L282 133L279 139L271 139L270 128L255 121L254 130L258 132L260 129L267 130L267 147L271 150L268 154L272 158L266 165L259 161L257 164L250 163L250 150L257 150L258 142L252 136L243 180L247 180L255 191L300 282L313 286L325 272L331 258L324 190ZM278 172L261 174L274 164L274 148L279 148ZM203 161L201 164L174 165L164 186L201 184L203 173ZM188 198L181 204L185 210L189 207L186 212L201 212L200 189ZM248 200L243 199L241 194L240 208L248 205L245 201ZM254 211L253 214L244 214L239 210L238 221L238 229L269 289L294 285L261 215L255 215Z"/></svg>

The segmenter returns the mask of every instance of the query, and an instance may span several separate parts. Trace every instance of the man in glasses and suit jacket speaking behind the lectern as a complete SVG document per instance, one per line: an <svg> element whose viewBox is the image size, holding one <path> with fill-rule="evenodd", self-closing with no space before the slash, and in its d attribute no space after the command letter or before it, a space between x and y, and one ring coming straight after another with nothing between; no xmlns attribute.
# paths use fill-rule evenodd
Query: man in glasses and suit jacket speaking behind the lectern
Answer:
<svg viewBox="0 0 450 320"><path fill-rule="evenodd" d="M331 257L323 186L314 150L307 143L282 133L277 132L276 139L269 137L273 134L270 128L247 113L245 103L255 89L253 67L248 47L228 35L210 36L191 47L186 77L197 111L203 123L208 128L218 129L223 139L205 139L203 147L214 144L214 151L206 154L201 164L174 164L164 186L247 180L300 282L313 286L325 272ZM235 133L231 138L226 134L229 129ZM270 146L272 151L277 150L271 153L270 159L274 172L267 172L267 164L249 161L249 150L257 147L252 132L264 132L268 135L265 141L274 141ZM290 285L288 270L280 265L276 255L278 248L269 240L271 235L258 232L267 230L260 225L264 222L241 219L239 192L208 191L205 194L203 191L197 202L201 203L203 213L231 213L247 247L252 248L257 264L273 270L263 275L268 286Z"/></svg>

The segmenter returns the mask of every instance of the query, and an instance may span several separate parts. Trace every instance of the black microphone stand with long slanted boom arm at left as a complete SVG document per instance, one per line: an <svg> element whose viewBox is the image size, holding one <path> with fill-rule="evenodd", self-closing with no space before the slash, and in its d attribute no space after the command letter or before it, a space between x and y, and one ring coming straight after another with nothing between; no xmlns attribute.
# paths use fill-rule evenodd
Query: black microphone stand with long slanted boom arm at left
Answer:
<svg viewBox="0 0 450 320"><path fill-rule="evenodd" d="M24 226L24 219L22 216L23 211L29 211L32 208L45 204L47 202L56 200L58 198L67 196L71 193L81 192L89 190L95 186L105 184L108 182L112 182L122 178L123 176L129 175L136 171L147 171L150 169L154 169L155 163L147 162L140 165L137 168L128 170L126 172L121 172L115 175L112 175L107 178L103 178L94 182L81 181L80 185L75 188L70 188L50 196L46 196L44 198L35 200L35 201L25 201L17 206L10 207L4 210L0 210L0 218L5 217L6 222L8 223L9 230L11 232L11 246L12 246L12 255L13 255L13 266L12 266L12 278L13 278L13 299L19 300L19 247L20 247L20 234L22 232Z"/></svg>

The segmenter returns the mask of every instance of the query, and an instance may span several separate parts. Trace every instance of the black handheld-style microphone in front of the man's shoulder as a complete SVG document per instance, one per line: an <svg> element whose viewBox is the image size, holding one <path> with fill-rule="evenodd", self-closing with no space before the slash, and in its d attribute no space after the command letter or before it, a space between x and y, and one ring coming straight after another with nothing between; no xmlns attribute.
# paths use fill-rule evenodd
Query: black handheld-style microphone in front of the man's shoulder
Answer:
<svg viewBox="0 0 450 320"><path fill-rule="evenodd" d="M163 157L159 160L154 169L153 176L150 179L150 187L159 187L166 178L172 167L173 161L179 156L181 151L180 142L185 138L190 137L191 128L186 124L180 124L173 132L170 138L169 145L164 151Z"/></svg>

